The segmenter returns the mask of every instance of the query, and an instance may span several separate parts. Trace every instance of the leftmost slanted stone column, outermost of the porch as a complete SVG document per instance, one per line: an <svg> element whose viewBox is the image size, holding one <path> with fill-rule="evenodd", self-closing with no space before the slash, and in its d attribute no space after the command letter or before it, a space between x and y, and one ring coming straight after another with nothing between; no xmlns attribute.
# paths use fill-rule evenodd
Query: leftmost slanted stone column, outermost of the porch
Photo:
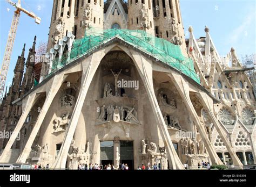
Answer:
<svg viewBox="0 0 256 187"><path fill-rule="evenodd" d="M7 143L7 145L4 148L4 151L0 157L0 162L4 162L6 159L6 156L9 153L9 150L11 149L11 146L14 144L15 139L17 138L17 135L19 133L19 131L21 131L21 128L25 122L26 117L29 114L29 111L31 110L31 107L33 106L33 103L35 101L36 98L36 92L32 92L29 96L28 96L28 100L26 101L26 105L23 109L23 113L21 115L21 118L19 118L18 124L16 125L16 128L14 130L14 132L11 134L11 137Z"/></svg>

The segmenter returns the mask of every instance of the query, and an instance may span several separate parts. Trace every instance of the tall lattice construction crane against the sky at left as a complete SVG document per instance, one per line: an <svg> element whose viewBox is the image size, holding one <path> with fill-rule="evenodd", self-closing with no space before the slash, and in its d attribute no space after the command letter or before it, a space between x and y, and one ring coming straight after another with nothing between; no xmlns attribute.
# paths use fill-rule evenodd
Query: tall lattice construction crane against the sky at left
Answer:
<svg viewBox="0 0 256 187"><path fill-rule="evenodd" d="M9 0L8 3L10 3L12 6L14 6L16 8L16 11L14 11L14 17L12 18L11 29L9 31L8 40L7 40L7 44L6 44L5 52L4 52L4 58L3 58L3 62L2 62L2 68L0 71L0 76L1 76L0 102L1 103L2 103L2 99L3 99L6 77L8 74L9 64L10 64L10 60L11 60L12 48L14 47L14 41L15 41L17 27L18 27L18 23L19 23L19 16L21 16L21 12L24 12L29 17L35 19L35 22L37 24L40 24L40 22L41 22L41 18L37 17L35 15L35 13L22 8L21 0L18 0L17 3L14 3Z"/></svg>

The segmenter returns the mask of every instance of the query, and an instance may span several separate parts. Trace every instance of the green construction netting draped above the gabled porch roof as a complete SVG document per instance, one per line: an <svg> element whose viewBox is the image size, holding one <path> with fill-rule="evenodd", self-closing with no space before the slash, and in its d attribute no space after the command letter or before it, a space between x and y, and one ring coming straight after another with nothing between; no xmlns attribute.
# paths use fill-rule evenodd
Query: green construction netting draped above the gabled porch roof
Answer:
<svg viewBox="0 0 256 187"><path fill-rule="evenodd" d="M199 76L194 70L193 61L183 56L179 46L173 45L165 39L156 38L142 30L119 30L116 28L102 30L90 27L85 31L84 38L76 39L73 42L70 56L64 54L62 55L62 59L59 60L56 58L53 60L52 72L62 68L65 64L72 62L78 57L90 53L93 49L105 44L114 37L118 37L155 57L157 60L169 64L169 66L181 71L200 84Z"/></svg>

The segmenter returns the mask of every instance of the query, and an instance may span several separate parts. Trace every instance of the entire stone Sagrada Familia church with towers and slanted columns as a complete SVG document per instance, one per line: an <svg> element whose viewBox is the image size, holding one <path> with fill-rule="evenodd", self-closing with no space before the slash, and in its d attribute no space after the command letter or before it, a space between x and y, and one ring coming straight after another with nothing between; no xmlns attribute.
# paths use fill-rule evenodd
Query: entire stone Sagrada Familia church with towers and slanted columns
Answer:
<svg viewBox="0 0 256 187"><path fill-rule="evenodd" d="M0 162L131 169L255 164L253 84L179 0L54 0L47 53L23 48L0 107ZM229 50L228 50L229 51ZM24 71L25 67L25 71ZM35 84L38 82L38 84Z"/></svg>

